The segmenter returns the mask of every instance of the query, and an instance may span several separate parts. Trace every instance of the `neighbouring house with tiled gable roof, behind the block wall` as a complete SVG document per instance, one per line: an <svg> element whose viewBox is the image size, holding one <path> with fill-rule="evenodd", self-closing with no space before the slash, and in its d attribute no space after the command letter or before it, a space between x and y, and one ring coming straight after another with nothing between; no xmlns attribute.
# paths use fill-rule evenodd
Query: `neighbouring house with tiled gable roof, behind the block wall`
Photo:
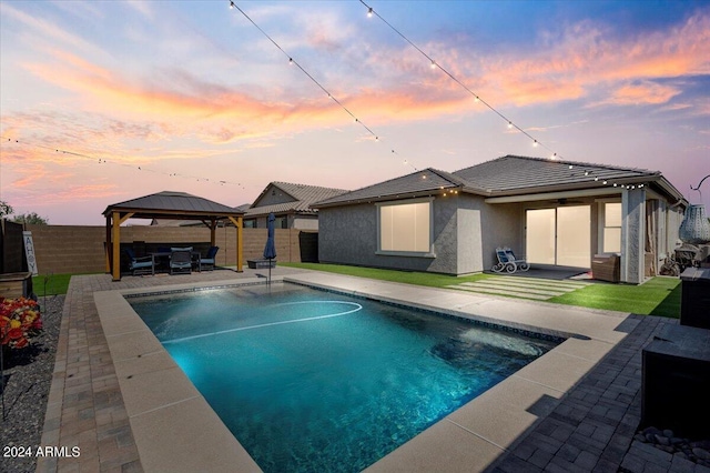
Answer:
<svg viewBox="0 0 710 473"><path fill-rule="evenodd" d="M273 212L277 229L318 230L317 210L311 204L347 192L344 189L317 185L270 182L254 203L240 210L244 214L244 228L266 228L266 219Z"/></svg>

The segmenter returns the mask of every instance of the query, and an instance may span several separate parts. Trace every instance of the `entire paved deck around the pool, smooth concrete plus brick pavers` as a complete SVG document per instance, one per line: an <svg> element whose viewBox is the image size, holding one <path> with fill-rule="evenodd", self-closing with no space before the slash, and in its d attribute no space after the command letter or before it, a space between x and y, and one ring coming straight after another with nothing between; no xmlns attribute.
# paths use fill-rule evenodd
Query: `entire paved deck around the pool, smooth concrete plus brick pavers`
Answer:
<svg viewBox="0 0 710 473"><path fill-rule="evenodd" d="M42 445L79 446L81 455L40 459L38 471L258 471L123 294L263 282L262 274L214 271L120 282L103 274L72 278ZM668 464L666 471L673 465L709 471L632 445L640 415L640 349L659 324L673 320L288 268L273 274L501 325L574 334L368 471L621 466L641 472L659 464Z"/></svg>

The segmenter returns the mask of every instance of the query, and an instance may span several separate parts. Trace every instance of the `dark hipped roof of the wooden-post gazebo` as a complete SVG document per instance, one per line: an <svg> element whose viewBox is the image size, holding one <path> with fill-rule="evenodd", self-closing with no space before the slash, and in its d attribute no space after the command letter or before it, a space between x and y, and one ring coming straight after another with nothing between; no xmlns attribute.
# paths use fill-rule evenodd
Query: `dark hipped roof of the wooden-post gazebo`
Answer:
<svg viewBox="0 0 710 473"><path fill-rule="evenodd" d="M244 212L219 202L174 191L163 191L113 203L106 207L103 215L109 217L112 212L131 213L133 219L223 220L244 215Z"/></svg>

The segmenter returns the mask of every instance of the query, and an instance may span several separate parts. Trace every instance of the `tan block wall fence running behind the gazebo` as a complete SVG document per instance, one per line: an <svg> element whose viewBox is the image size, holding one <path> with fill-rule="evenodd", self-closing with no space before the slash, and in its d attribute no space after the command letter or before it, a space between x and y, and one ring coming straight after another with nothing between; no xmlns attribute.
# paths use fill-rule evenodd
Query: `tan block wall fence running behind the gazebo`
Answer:
<svg viewBox="0 0 710 473"><path fill-rule="evenodd" d="M32 232L40 274L105 272L105 227L27 225ZM242 229L244 264L261 259L266 244L266 229ZM317 259L317 232L296 229L276 229L276 261L302 262ZM210 230L199 227L121 227L121 245L131 242L168 245L210 245ZM236 230L233 227L216 230L220 251L216 264L236 264Z"/></svg>

